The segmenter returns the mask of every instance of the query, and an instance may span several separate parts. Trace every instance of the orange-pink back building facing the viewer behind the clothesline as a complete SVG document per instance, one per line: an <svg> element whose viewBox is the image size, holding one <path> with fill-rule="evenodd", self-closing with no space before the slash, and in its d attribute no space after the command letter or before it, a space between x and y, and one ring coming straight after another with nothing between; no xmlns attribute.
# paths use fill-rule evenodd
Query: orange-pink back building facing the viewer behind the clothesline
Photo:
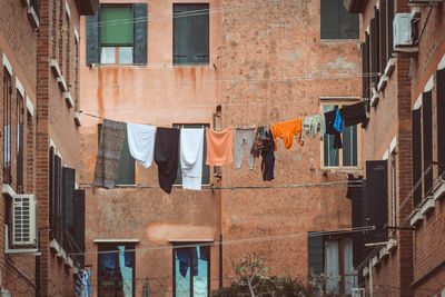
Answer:
<svg viewBox="0 0 445 297"><path fill-rule="evenodd" d="M294 139L289 150L277 139L271 182L263 181L258 159L248 169L245 155L240 171L234 164L204 167L200 191L177 179L167 195L156 165L145 169L126 146L117 186L95 188L92 180L103 119L267 127L360 102L358 16L332 0L103 0L81 28L79 187L88 197L93 296L121 294L123 283L130 296L206 296L229 284L231 261L244 253L266 256L275 275L328 273L332 291L352 293L352 236L329 231L352 225L344 182L364 169L358 126L347 128L343 150L328 136L307 136L304 147ZM268 239L237 242L255 238ZM192 277L196 268L180 275L174 247L184 244L210 255L197 260ZM117 250L128 250L125 267ZM128 273L109 273L118 266Z"/></svg>

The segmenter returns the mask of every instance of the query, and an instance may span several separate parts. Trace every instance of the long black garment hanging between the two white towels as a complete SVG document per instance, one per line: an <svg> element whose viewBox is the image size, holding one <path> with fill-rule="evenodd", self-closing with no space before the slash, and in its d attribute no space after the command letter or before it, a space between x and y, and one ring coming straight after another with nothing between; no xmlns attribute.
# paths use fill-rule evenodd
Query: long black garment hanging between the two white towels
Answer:
<svg viewBox="0 0 445 297"><path fill-rule="evenodd" d="M157 128L155 162L158 165L159 186L170 194L178 172L179 129Z"/></svg>

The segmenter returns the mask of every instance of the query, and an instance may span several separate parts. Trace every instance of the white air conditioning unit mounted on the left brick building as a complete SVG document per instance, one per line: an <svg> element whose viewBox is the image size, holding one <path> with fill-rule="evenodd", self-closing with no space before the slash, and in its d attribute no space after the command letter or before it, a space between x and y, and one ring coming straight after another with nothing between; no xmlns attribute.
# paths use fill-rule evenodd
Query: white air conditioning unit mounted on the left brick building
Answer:
<svg viewBox="0 0 445 297"><path fill-rule="evenodd" d="M33 195L12 197L12 245L37 244L37 201Z"/></svg>

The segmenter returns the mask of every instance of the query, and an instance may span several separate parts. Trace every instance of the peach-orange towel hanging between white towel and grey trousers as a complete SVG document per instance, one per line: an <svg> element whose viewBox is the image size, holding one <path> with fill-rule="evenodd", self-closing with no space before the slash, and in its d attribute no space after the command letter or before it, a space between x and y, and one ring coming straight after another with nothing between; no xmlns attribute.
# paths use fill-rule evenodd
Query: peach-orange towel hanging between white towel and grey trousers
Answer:
<svg viewBox="0 0 445 297"><path fill-rule="evenodd" d="M207 139L207 165L222 166L234 160L233 143L234 129L228 128L222 132L206 129Z"/></svg>

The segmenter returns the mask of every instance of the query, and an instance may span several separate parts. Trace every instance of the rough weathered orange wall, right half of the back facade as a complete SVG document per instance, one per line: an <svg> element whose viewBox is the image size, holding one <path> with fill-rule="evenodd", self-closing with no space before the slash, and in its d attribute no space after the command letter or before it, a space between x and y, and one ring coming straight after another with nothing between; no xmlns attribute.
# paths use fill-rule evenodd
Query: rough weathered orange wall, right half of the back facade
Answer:
<svg viewBox="0 0 445 297"><path fill-rule="evenodd" d="M360 97L358 40L320 40L320 1L228 0L222 8L222 127L271 125L316 115L322 96ZM336 75L350 78L336 79ZM304 147L294 139L289 150L281 139L277 142L274 181L261 180L258 159L254 170L248 170L245 156L241 171L235 165L224 167L224 186L346 180L344 174L323 175L319 136L308 136ZM344 187L222 191L225 240L298 234L225 246L225 277L234 274L231 260L249 251L265 255L274 275L306 278L307 232L350 227L350 200L345 194Z"/></svg>

